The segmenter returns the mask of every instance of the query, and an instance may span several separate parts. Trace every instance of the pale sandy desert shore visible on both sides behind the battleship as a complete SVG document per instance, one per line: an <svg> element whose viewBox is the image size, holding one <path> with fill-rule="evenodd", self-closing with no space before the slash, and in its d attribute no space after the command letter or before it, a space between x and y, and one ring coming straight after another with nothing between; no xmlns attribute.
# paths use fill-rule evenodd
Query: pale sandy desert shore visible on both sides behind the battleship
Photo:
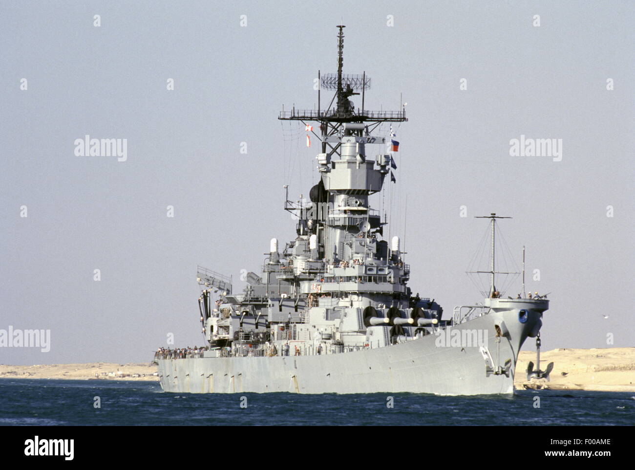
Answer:
<svg viewBox="0 0 635 470"><path fill-rule="evenodd" d="M521 351L516 370L516 389L589 390L635 392L635 348L554 349L540 354L540 368L554 363L551 382L527 382L525 371L536 354ZM485 366L484 366L485 373ZM7 366L0 364L0 378L67 378L75 380L149 380L157 382L156 366L144 364L52 364Z"/></svg>

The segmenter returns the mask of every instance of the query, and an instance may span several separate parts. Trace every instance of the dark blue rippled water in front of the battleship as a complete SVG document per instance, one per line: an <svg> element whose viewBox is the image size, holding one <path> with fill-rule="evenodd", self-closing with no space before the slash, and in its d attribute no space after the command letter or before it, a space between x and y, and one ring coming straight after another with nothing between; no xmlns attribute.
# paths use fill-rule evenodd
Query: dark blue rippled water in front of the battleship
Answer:
<svg viewBox="0 0 635 470"><path fill-rule="evenodd" d="M179 394L164 393L154 382L0 378L0 425L634 424L635 397L621 392Z"/></svg>

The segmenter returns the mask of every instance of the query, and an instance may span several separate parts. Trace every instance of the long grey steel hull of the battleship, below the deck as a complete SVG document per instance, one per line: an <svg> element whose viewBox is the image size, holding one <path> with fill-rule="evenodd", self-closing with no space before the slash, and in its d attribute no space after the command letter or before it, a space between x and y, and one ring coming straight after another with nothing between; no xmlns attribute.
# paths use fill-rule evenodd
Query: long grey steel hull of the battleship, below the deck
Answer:
<svg viewBox="0 0 635 470"><path fill-rule="evenodd" d="M495 325L502 319L507 334L497 337ZM513 394L518 350L537 321L540 315L535 312L522 324L518 314L505 312L451 328L451 335L443 333L445 343L429 335L384 348L322 356L203 357L156 363L166 392ZM486 332L486 351L478 345L448 343L454 331L463 330ZM495 373L505 362L507 374Z"/></svg>

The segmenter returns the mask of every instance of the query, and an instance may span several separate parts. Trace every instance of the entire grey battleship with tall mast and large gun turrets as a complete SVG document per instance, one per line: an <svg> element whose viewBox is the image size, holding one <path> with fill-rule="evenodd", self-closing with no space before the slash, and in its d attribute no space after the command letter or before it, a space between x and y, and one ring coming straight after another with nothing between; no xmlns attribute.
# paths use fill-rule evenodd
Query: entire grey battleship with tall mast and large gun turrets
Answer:
<svg viewBox="0 0 635 470"><path fill-rule="evenodd" d="M207 346L158 350L161 387L192 393L512 394L518 351L528 337L539 341L549 301L525 296L524 283L518 298L497 291L496 214L486 216L490 266L477 271L490 280L484 301L455 307L444 318L434 299L412 294L399 237L382 239L385 215L382 220L369 201L396 167L385 153L387 139L373 131L407 121L405 108L364 109L370 79L342 73L344 26L338 28L337 73L319 76L318 109L294 107L279 115L301 121L321 144L311 200L292 202L287 190L284 209L297 220L297 237L284 247L272 239L262 272L248 273L240 294L232 292L230 277L199 266ZM335 92L326 109L320 107L321 90ZM350 98L359 94L362 106L355 108ZM384 153L371 156L369 147ZM539 366L539 359L538 370L530 364L528 377L548 378L549 370Z"/></svg>

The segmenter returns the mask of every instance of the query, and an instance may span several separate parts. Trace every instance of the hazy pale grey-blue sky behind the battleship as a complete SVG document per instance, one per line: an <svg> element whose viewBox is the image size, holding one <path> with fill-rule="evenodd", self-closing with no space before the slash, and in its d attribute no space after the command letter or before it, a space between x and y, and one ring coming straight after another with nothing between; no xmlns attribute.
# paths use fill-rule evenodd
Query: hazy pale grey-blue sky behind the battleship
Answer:
<svg viewBox="0 0 635 470"><path fill-rule="evenodd" d="M196 266L239 291L271 237L295 238L283 184L308 195L318 146L277 116L316 105L340 22L345 73L372 78L366 108L408 103L385 200L393 191L413 291L445 317L482 300L465 275L486 228L473 216L497 212L514 217L501 228L518 262L526 245L528 290L551 293L544 349L607 347L607 333L634 346L634 13L631 1L4 1L0 329L50 329L51 349L0 348L0 363L145 362L168 333L203 344ZM127 160L76 156L86 134L127 139ZM521 135L562 139L561 161L511 156Z"/></svg>

